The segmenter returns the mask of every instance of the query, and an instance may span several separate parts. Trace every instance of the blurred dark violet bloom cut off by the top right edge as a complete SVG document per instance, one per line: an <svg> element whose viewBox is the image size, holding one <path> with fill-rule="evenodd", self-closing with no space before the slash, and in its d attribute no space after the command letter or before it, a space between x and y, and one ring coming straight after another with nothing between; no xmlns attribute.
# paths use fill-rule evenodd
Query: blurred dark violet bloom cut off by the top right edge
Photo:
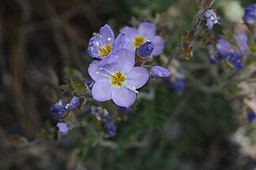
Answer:
<svg viewBox="0 0 256 170"><path fill-rule="evenodd" d="M256 24L256 4L244 9L243 21L246 24Z"/></svg>

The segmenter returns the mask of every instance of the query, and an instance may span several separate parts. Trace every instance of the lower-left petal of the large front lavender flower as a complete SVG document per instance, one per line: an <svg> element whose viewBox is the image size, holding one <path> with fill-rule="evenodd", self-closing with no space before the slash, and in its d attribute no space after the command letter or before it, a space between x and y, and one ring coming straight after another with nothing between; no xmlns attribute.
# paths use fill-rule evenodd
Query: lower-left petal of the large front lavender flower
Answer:
<svg viewBox="0 0 256 170"><path fill-rule="evenodd" d="M109 79L98 79L92 87L92 97L99 102L110 100L114 88Z"/></svg>

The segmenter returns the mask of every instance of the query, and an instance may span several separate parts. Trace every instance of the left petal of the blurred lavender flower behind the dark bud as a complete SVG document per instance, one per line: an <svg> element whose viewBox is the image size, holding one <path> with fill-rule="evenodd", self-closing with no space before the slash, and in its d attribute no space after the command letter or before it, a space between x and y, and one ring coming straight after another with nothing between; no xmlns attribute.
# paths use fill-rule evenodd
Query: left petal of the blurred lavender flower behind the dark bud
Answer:
<svg viewBox="0 0 256 170"><path fill-rule="evenodd" d="M135 50L134 37L139 35L137 29L126 26L122 28L120 32L126 35L126 42L123 48L127 50L132 50L132 51Z"/></svg>

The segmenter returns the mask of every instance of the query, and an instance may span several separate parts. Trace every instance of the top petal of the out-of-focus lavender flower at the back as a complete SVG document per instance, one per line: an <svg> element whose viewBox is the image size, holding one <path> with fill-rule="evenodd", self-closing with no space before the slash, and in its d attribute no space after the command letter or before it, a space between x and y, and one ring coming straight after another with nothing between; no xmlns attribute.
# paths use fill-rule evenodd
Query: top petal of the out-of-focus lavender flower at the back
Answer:
<svg viewBox="0 0 256 170"><path fill-rule="evenodd" d="M156 26L150 22L142 22L138 27L140 35L144 35L146 39L153 39L156 35Z"/></svg>

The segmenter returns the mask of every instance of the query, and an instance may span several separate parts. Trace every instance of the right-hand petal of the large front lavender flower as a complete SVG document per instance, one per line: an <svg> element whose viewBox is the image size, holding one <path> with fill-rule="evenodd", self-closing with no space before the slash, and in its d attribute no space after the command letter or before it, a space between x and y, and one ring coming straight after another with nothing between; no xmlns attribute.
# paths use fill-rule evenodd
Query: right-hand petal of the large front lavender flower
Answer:
<svg viewBox="0 0 256 170"><path fill-rule="evenodd" d="M149 72L147 69L142 67L134 67L131 72L126 74L125 87L133 89L141 88L147 83L149 79Z"/></svg>

